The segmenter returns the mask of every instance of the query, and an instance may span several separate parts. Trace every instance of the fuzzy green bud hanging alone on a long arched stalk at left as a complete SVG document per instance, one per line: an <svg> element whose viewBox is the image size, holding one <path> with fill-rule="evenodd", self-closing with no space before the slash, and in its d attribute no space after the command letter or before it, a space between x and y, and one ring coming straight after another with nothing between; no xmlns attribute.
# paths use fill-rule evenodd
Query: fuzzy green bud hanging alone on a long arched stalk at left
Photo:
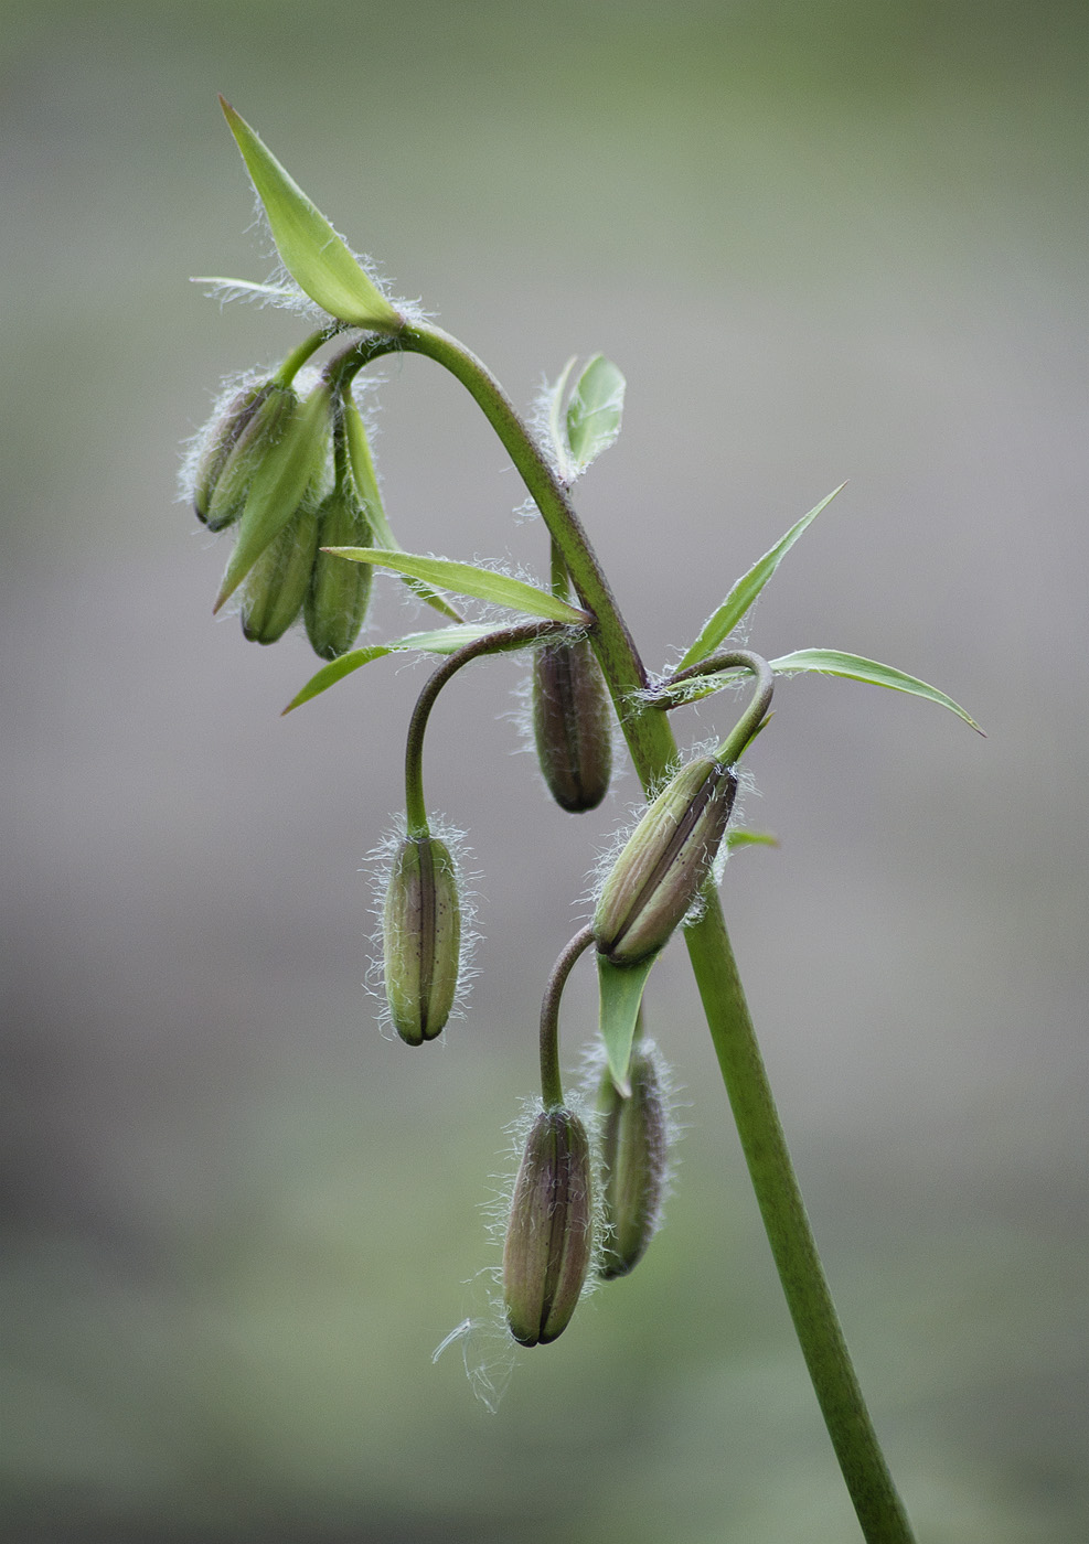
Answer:
<svg viewBox="0 0 1089 1544"><path fill-rule="evenodd" d="M457 990L462 908L457 871L439 837L406 837L382 919L386 1001L406 1045L442 1033Z"/></svg>

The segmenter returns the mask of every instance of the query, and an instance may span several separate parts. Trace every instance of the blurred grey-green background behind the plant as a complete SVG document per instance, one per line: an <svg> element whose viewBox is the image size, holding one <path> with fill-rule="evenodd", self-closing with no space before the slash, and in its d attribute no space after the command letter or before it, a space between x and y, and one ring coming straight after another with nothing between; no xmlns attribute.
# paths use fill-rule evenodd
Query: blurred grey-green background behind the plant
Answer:
<svg viewBox="0 0 1089 1544"><path fill-rule="evenodd" d="M1084 1536L1086 42L1074 0L8 0L8 1538L857 1536L680 948L666 1231L497 1414L431 1363L482 1311L544 976L636 786L561 817L517 664L466 673L428 784L480 974L448 1044L382 1038L366 854L423 673L281 721L315 661L212 621L226 548L175 502L219 378L300 337L187 284L267 272L216 90L517 401L621 364L581 508L650 664L850 477L754 647L887 659L989 738L783 686L746 808L782 845L731 862L728 920L921 1541ZM468 398L385 377L402 539L544 573ZM372 636L411 622L385 582ZM576 1065L581 973L564 1031Z"/></svg>

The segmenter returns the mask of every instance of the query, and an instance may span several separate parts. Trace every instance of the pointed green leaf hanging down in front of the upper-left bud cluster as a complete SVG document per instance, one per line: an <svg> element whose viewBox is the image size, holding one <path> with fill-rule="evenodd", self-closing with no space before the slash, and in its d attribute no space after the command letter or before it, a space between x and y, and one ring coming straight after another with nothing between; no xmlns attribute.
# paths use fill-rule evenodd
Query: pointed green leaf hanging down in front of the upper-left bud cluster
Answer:
<svg viewBox="0 0 1089 1544"><path fill-rule="evenodd" d="M269 542L287 525L321 472L329 440L332 389L317 386L301 403L283 435L269 449L250 483L238 525L238 540L222 576L213 615L230 599Z"/></svg>

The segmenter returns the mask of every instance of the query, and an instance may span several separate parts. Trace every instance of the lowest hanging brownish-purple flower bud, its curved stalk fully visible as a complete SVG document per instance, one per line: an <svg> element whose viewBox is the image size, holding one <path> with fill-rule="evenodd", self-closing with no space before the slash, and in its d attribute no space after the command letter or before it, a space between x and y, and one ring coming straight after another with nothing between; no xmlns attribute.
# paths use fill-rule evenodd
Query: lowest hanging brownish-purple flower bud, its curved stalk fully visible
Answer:
<svg viewBox="0 0 1089 1544"><path fill-rule="evenodd" d="M592 1246L585 1127L570 1110L542 1110L525 1141L504 1246L507 1323L524 1346L547 1345L564 1332Z"/></svg>

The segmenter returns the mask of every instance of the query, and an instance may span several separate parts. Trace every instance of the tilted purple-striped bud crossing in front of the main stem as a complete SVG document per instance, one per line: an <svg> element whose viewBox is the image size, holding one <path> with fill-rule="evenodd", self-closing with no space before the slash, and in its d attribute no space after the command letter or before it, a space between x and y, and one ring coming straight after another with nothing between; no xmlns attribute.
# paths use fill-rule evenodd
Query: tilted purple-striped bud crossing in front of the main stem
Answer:
<svg viewBox="0 0 1089 1544"><path fill-rule="evenodd" d="M593 914L593 940L615 965L635 965L669 940L715 862L735 792L732 767L697 757L646 811Z"/></svg>

